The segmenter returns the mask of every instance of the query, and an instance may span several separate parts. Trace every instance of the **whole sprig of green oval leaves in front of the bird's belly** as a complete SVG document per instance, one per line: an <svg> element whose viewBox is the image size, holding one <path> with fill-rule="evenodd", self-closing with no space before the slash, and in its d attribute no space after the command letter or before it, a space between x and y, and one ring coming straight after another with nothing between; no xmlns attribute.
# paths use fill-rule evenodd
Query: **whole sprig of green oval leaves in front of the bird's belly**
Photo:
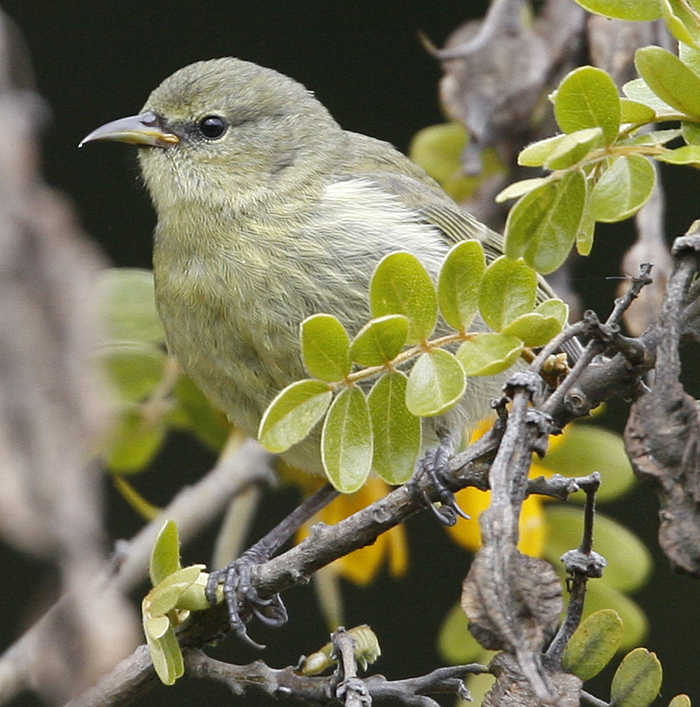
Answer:
<svg viewBox="0 0 700 707"><path fill-rule="evenodd" d="M323 419L322 460L338 490L356 491L371 469L390 484L404 483L422 448L421 418L458 405L469 377L501 373L525 347L561 331L567 306L557 299L536 306L537 292L534 270L506 257L487 267L478 241L452 248L437 287L415 256L386 256L370 285L373 318L354 338L331 314L302 322L302 356L313 378L273 400L260 441L284 452Z"/></svg>

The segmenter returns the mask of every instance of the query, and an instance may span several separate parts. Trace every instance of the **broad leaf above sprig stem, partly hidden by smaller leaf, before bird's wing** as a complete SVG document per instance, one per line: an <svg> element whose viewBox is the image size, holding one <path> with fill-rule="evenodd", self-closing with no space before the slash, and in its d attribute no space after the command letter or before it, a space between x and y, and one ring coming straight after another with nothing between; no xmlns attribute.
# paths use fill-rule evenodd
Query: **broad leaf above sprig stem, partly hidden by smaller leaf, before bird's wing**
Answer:
<svg viewBox="0 0 700 707"><path fill-rule="evenodd" d="M391 253L377 265L370 283L372 316L403 314L408 343L427 339L437 324L437 293L420 260L410 253Z"/></svg>

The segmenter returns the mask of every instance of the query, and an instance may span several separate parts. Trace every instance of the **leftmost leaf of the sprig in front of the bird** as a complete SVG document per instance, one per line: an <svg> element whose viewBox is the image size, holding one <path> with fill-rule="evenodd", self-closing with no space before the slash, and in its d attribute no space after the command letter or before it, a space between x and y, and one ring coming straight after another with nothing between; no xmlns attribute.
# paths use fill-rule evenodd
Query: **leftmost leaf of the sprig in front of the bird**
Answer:
<svg viewBox="0 0 700 707"><path fill-rule="evenodd" d="M301 442L323 417L332 397L323 381L302 380L287 386L270 403L260 421L260 443L279 454Z"/></svg>

